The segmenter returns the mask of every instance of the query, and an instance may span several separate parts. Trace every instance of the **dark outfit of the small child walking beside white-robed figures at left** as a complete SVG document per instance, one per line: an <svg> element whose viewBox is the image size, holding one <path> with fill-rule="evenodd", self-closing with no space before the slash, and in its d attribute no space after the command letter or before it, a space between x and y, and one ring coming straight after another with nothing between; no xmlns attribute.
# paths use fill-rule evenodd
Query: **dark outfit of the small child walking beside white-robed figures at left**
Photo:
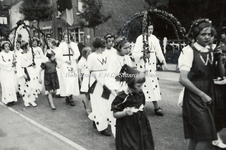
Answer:
<svg viewBox="0 0 226 150"><path fill-rule="evenodd" d="M47 91L59 89L59 81L56 70L56 62L45 62L41 64L44 71L44 84Z"/></svg>

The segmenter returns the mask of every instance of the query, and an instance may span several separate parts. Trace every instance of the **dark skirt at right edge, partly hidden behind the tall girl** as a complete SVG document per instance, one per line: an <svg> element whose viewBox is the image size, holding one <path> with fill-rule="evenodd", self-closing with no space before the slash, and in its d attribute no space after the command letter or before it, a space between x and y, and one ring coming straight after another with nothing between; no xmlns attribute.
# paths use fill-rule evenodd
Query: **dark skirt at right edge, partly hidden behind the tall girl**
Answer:
<svg viewBox="0 0 226 150"><path fill-rule="evenodd" d="M214 120L217 131L226 127L226 85L215 85Z"/></svg>

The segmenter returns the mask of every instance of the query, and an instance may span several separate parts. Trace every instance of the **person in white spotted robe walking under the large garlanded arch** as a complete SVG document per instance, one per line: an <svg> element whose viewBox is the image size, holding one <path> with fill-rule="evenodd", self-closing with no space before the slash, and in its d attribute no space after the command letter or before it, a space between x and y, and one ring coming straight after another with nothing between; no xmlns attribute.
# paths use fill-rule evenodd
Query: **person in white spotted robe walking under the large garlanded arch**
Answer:
<svg viewBox="0 0 226 150"><path fill-rule="evenodd" d="M150 24L146 33L147 35L144 35L145 40L148 38L147 43L149 45L149 53L146 53L146 56L144 56L143 35L140 35L136 39L132 56L135 59L137 70L146 72L146 81L143 84L143 91L146 101L153 102L155 114L158 116L163 116L164 113L157 103L157 101L161 100L161 92L158 82L159 79L156 76L156 57L163 64L163 69L167 68L167 64L162 53L159 40L155 35L152 34L153 30L154 26L153 24ZM144 59L146 59L146 63Z"/></svg>

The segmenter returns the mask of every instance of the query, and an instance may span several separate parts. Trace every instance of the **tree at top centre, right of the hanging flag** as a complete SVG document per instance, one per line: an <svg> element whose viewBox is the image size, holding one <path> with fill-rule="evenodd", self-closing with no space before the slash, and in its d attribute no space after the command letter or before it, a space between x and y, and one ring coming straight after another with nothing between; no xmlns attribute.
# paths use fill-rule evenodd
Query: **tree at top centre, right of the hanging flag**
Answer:
<svg viewBox="0 0 226 150"><path fill-rule="evenodd" d="M84 3L84 12L80 15L79 23L81 26L95 28L111 18L110 13L104 13L101 0L82 0Z"/></svg>

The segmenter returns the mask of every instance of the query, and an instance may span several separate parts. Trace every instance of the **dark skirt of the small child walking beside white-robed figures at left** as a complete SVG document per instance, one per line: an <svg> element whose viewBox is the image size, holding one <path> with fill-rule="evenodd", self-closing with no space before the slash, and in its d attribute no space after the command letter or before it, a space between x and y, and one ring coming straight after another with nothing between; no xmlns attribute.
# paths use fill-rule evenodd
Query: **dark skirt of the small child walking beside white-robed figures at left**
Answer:
<svg viewBox="0 0 226 150"><path fill-rule="evenodd" d="M47 91L59 89L59 80L57 73L45 74L44 84Z"/></svg>

